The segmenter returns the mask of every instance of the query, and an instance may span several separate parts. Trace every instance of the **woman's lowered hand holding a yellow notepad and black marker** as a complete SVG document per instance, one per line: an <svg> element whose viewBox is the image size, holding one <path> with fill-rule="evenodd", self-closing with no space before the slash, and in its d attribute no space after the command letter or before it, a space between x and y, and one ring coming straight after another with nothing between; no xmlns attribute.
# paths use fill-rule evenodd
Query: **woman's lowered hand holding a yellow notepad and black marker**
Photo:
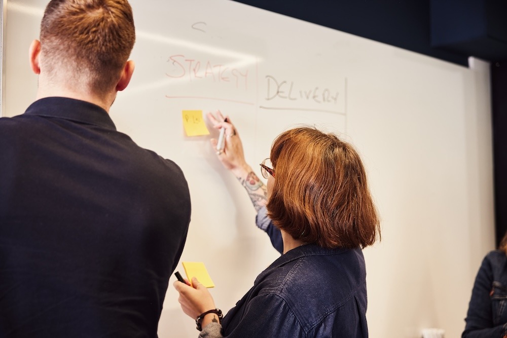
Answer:
<svg viewBox="0 0 507 338"><path fill-rule="evenodd" d="M187 279L185 281L188 282ZM204 285L199 283L197 278L192 278L192 286L180 281L175 281L172 285L179 292L178 302L182 306L183 312L193 319L208 310L216 308L211 293Z"/></svg>

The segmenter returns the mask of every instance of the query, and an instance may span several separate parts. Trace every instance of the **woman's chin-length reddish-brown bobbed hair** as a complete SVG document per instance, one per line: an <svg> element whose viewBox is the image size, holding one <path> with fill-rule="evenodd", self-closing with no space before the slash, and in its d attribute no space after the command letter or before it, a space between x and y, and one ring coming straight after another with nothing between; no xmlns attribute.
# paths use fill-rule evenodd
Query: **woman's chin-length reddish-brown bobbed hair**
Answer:
<svg viewBox="0 0 507 338"><path fill-rule="evenodd" d="M327 248L372 245L380 222L354 148L334 134L302 127L280 134L268 215L295 239Z"/></svg>

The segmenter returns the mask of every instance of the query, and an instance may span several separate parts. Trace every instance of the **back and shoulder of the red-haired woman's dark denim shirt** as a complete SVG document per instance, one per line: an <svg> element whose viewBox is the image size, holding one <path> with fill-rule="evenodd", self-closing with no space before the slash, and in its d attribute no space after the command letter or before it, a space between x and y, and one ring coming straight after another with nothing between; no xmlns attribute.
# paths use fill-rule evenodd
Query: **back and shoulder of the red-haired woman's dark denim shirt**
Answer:
<svg viewBox="0 0 507 338"><path fill-rule="evenodd" d="M358 249L304 245L283 254L224 317L227 337L368 337Z"/></svg>

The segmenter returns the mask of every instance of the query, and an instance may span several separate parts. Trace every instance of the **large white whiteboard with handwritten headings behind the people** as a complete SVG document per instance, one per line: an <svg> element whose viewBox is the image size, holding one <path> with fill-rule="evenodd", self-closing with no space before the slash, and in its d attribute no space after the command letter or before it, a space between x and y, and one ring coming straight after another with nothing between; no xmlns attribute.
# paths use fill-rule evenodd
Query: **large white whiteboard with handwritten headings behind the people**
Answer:
<svg viewBox="0 0 507 338"><path fill-rule="evenodd" d="M45 2L34 3L7 1L6 116L35 97L27 51ZM185 109L228 115L255 170L295 125L352 142L382 218L382 242L365 250L370 336L419 338L426 327L460 336L494 245L488 64L466 68L228 0L131 5L136 69L111 116L186 173L193 214L182 260L204 261L216 305L233 307L278 254L209 137L185 136ZM275 80L282 93L271 98ZM159 336L195 337L173 280Z"/></svg>

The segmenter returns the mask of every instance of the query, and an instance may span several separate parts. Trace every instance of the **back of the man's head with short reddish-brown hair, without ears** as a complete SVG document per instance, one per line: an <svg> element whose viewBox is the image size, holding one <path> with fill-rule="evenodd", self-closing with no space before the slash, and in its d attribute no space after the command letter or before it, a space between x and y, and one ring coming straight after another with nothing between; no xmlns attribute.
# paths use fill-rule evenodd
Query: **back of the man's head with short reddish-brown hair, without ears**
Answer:
<svg viewBox="0 0 507 338"><path fill-rule="evenodd" d="M102 96L117 86L134 46L132 9L127 0L51 0L40 40L46 81Z"/></svg>

